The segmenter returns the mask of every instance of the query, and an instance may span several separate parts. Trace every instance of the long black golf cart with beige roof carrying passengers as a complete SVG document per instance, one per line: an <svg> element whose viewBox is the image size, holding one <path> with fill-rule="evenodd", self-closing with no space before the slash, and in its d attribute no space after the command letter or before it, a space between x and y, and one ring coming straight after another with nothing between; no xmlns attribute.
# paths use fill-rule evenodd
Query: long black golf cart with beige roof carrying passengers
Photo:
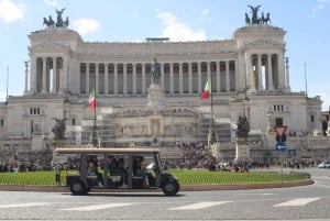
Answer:
<svg viewBox="0 0 330 221"><path fill-rule="evenodd" d="M87 195L92 188L97 189L141 189L147 191L161 188L166 196L174 196L179 191L178 179L164 172L161 165L160 150L145 147L127 148L95 148L95 147L73 147L56 148L56 155L75 156L79 159L79 170L77 174L66 176L66 186L73 195ZM102 165L102 169L90 173L90 158L98 161L97 167ZM111 172L112 164L109 158L124 162L125 173ZM140 176L135 173L135 159L143 158L147 176ZM152 172L150 172L150 169ZM143 174L142 174L143 175ZM58 175L57 175L58 176ZM145 179L148 184L145 184Z"/></svg>

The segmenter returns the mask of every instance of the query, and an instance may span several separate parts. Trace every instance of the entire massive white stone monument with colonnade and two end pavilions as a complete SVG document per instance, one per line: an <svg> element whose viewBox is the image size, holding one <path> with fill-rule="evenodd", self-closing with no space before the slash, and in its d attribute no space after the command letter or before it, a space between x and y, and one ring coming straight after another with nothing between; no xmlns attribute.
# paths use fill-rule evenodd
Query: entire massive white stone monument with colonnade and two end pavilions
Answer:
<svg viewBox="0 0 330 221"><path fill-rule="evenodd" d="M0 106L1 148L13 150L10 154L48 148L54 119L65 119L70 144L90 143L96 122L101 146L207 142L211 122L217 141L232 143L241 115L256 143L274 125L317 136L322 101L290 90L285 34L273 25L246 24L230 40L123 43L85 42L68 27L32 32L24 92ZM154 58L161 64L157 89ZM200 100L208 79L212 99ZM88 103L94 88L96 114Z"/></svg>

